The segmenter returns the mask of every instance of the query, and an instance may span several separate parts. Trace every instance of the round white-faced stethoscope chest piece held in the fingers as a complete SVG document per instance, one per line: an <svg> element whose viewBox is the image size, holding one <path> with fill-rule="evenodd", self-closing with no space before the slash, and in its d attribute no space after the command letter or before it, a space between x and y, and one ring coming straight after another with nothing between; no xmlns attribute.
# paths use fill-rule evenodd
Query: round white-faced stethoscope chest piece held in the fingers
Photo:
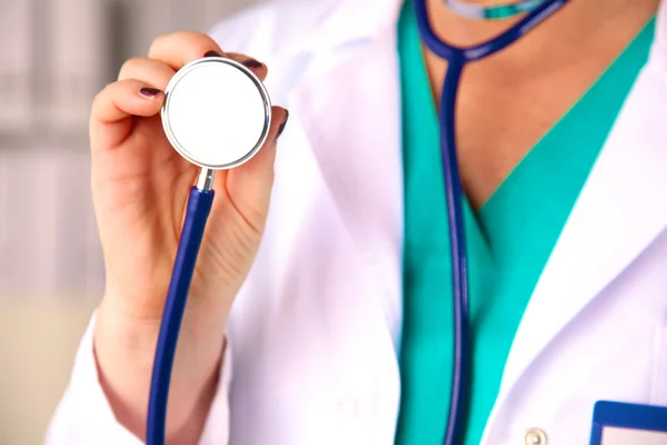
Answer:
<svg viewBox="0 0 667 445"><path fill-rule="evenodd" d="M237 167L267 139L269 95L241 63L222 57L195 60L173 76L165 92L165 134L173 148L197 166Z"/></svg>

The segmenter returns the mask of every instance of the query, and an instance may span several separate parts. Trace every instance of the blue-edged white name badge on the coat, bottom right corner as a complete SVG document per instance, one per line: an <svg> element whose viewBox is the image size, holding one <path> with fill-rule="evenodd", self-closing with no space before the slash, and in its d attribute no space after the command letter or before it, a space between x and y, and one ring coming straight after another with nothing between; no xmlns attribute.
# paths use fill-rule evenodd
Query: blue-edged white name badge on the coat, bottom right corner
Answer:
<svg viewBox="0 0 667 445"><path fill-rule="evenodd" d="M600 400L590 445L667 445L667 407Z"/></svg>

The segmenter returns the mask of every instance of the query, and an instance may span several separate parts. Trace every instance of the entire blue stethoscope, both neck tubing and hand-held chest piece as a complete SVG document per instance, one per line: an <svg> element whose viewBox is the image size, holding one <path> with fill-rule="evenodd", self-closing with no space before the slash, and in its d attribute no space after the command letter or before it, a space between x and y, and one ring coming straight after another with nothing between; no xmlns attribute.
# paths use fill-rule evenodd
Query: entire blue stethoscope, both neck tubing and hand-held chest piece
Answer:
<svg viewBox="0 0 667 445"><path fill-rule="evenodd" d="M462 214L462 187L456 156L456 97L464 68L500 51L559 10L568 0L524 0L481 7L461 0L445 3L469 18L498 19L526 13L518 23L481 44L457 48L436 37L427 14L427 0L414 0L417 23L428 49L448 62L440 97L440 149L449 237L454 296L454 366L449 416L444 445L464 438L466 402L470 395L468 343L468 274ZM153 362L147 444L165 445L165 424L171 368L197 255L213 200L215 170L249 160L266 141L271 123L271 101L262 82L243 65L223 57L195 60L181 68L166 88L162 126L173 148L201 167L190 190L186 218Z"/></svg>

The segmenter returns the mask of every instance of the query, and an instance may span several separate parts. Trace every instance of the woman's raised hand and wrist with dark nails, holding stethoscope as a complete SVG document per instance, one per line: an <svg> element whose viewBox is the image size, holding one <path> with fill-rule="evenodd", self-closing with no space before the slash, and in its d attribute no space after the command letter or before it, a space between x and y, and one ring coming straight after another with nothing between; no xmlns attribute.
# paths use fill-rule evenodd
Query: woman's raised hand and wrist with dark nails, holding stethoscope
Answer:
<svg viewBox="0 0 667 445"><path fill-rule="evenodd" d="M141 438L183 210L199 174L167 140L159 111L163 90L176 71L215 55L246 65L261 80L267 76L262 63L223 53L205 34L178 32L158 38L148 57L127 61L118 81L104 88L92 106L92 195L106 267L94 350L100 380L117 418ZM272 112L261 150L238 168L216 171L216 199L171 379L170 442L196 443L207 417L227 317L255 258L269 207L276 140L288 117L280 107Z"/></svg>

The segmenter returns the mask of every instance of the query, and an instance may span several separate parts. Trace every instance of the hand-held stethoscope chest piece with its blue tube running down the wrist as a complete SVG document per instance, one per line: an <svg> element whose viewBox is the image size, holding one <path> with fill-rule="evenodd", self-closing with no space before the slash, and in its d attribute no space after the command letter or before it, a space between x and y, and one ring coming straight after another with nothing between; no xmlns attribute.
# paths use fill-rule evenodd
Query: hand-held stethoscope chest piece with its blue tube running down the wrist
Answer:
<svg viewBox="0 0 667 445"><path fill-rule="evenodd" d="M223 57L186 65L171 78L165 93L165 134L173 148L201 171L190 189L158 335L148 403L148 445L165 445L171 369L213 202L213 174L251 159L267 140L271 126L271 101L262 82L243 65Z"/></svg>

